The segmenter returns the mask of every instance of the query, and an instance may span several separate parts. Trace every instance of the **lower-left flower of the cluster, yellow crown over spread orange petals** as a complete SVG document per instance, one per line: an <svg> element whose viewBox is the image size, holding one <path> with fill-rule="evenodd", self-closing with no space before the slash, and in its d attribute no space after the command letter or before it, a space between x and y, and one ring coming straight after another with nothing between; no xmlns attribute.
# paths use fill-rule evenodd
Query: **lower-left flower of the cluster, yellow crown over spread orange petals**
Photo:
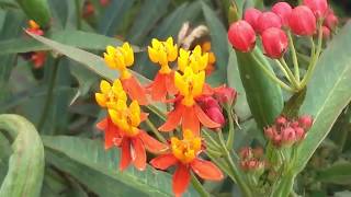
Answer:
<svg viewBox="0 0 351 197"><path fill-rule="evenodd" d="M121 148L121 171L131 162L137 170L144 171L146 150L158 153L168 147L138 128L147 115L140 112L137 101L133 101L127 107L125 101L118 100L116 105L114 109L109 109L109 116L97 125L105 132L105 149L113 146Z"/></svg>

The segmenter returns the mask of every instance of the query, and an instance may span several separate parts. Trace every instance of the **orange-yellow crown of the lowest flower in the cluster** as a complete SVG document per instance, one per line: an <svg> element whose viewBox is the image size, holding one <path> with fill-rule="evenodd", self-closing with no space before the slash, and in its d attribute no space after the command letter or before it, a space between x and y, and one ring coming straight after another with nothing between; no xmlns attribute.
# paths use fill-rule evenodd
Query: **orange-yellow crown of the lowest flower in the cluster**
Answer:
<svg viewBox="0 0 351 197"><path fill-rule="evenodd" d="M195 137L189 129L183 131L183 139L171 138L173 155L182 163L192 162L201 150L201 138Z"/></svg>

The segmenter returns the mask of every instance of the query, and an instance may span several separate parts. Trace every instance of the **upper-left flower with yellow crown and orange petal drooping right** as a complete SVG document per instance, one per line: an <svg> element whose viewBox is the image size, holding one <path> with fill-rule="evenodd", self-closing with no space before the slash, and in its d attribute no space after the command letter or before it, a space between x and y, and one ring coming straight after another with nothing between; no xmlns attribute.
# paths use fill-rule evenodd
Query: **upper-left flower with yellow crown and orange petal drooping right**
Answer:
<svg viewBox="0 0 351 197"><path fill-rule="evenodd" d="M110 68L121 72L120 80L129 97L138 101L140 105L147 105L148 101L145 89L127 69L127 67L134 63L134 51L129 44L124 43L122 47L107 46L106 53L104 53L103 56Z"/></svg>

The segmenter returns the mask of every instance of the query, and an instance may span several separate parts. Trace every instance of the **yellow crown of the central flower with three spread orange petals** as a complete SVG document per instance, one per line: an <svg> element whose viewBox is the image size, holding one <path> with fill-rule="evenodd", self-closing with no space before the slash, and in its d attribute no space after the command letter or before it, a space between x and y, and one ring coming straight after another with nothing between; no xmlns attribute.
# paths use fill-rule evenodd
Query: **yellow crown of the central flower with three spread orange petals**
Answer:
<svg viewBox="0 0 351 197"><path fill-rule="evenodd" d="M179 93L184 96L182 104L192 106L194 104L194 97L202 94L202 90L205 83L205 71L195 73L191 67L184 69L183 76L179 72L174 74L174 85Z"/></svg>

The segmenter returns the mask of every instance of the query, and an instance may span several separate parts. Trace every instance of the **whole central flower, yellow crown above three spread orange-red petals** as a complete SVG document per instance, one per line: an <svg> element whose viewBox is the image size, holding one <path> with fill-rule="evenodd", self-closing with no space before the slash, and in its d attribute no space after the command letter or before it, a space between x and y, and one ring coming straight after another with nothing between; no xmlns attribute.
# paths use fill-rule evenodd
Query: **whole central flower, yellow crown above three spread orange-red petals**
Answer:
<svg viewBox="0 0 351 197"><path fill-rule="evenodd" d="M183 130L190 129L199 136L200 123L208 128L220 127L195 102L196 97L206 94L204 71L194 73L191 67L185 67L183 76L176 72L174 83L181 101L176 102L173 111L168 114L167 121L159 127L159 130L171 131L181 123Z"/></svg>

